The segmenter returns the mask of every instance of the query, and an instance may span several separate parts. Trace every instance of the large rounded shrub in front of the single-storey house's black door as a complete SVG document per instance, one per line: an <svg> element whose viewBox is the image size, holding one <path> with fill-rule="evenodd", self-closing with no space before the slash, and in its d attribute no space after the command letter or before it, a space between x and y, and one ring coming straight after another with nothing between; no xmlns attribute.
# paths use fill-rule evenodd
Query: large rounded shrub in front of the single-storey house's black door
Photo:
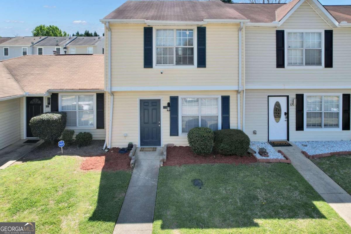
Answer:
<svg viewBox="0 0 351 234"><path fill-rule="evenodd" d="M64 112L46 112L34 116L29 121L34 137L44 141L60 139L66 127L67 114Z"/></svg>

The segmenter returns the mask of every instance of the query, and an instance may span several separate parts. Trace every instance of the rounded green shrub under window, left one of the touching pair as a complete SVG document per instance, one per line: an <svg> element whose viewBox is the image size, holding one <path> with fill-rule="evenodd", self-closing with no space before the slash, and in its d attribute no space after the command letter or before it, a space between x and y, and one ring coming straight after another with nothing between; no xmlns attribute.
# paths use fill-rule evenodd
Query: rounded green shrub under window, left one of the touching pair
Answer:
<svg viewBox="0 0 351 234"><path fill-rule="evenodd" d="M213 149L213 131L211 128L195 127L188 132L188 143L196 154L209 154Z"/></svg>

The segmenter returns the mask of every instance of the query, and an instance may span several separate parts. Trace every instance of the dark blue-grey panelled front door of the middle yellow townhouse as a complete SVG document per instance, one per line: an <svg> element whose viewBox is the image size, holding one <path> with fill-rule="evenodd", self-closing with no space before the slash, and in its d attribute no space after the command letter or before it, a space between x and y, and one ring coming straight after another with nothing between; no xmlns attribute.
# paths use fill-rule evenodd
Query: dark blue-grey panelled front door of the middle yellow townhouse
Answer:
<svg viewBox="0 0 351 234"><path fill-rule="evenodd" d="M161 146L161 101L140 100L140 146Z"/></svg>

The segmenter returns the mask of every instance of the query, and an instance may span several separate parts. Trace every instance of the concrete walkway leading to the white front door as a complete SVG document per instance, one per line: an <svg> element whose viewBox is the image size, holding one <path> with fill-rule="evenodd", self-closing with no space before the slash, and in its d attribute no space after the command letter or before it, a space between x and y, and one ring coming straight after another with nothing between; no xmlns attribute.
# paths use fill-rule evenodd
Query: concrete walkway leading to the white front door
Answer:
<svg viewBox="0 0 351 234"><path fill-rule="evenodd" d="M290 142L291 145L293 145ZM296 170L312 185L324 200L351 226L351 196L311 160L301 153L295 145L292 147L274 147L283 151Z"/></svg>

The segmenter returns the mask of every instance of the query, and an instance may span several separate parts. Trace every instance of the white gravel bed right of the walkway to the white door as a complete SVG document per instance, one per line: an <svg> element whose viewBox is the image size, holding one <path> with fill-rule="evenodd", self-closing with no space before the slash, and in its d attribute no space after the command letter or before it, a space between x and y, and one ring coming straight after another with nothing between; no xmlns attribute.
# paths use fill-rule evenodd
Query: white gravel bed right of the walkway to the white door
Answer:
<svg viewBox="0 0 351 234"><path fill-rule="evenodd" d="M309 155L351 151L351 141L293 141L292 143Z"/></svg>

